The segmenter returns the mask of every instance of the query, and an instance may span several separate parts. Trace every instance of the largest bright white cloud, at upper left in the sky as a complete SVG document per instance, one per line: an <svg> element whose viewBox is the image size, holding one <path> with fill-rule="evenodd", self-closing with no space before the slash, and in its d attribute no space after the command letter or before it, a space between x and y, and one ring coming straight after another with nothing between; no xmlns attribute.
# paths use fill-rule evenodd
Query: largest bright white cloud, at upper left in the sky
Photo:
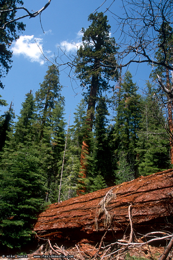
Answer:
<svg viewBox="0 0 173 260"><path fill-rule="evenodd" d="M38 44L38 47L36 42ZM41 38L34 38L33 35L20 36L20 38L13 43L12 51L14 55L24 55L31 62L39 62L41 65L44 64L44 60L41 58L40 49L43 48Z"/></svg>

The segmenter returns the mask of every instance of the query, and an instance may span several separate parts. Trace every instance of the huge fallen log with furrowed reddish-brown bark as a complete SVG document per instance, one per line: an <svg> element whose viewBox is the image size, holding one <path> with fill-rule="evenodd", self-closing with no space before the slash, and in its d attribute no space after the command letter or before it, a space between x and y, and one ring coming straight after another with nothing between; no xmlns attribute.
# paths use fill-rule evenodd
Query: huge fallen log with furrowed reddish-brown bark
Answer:
<svg viewBox="0 0 173 260"><path fill-rule="evenodd" d="M114 196L111 195L111 198L110 194ZM130 233L131 230L129 205L136 232L160 231L170 227L173 222L173 169L54 203L38 216L34 231L37 237L44 239L95 242L108 229L109 223L107 226L104 223L108 214L112 224L105 239L122 239L125 231ZM106 214L106 211L99 210L101 207L105 207Z"/></svg>

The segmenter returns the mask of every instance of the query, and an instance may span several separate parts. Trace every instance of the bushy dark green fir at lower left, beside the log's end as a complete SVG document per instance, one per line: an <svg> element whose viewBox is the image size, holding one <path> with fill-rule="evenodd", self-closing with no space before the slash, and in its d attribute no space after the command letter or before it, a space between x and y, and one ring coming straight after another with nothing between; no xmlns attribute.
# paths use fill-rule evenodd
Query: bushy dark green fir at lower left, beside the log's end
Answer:
<svg viewBox="0 0 173 260"><path fill-rule="evenodd" d="M43 209L44 195L37 149L20 145L5 155L0 171L0 240L4 249L18 248L33 237L32 224Z"/></svg>

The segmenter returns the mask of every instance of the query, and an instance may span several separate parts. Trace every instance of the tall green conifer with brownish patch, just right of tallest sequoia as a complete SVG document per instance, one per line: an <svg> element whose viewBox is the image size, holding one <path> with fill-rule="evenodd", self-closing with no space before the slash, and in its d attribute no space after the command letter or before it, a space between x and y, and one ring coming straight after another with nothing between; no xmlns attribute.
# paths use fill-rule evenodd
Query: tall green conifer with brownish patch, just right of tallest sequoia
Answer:
<svg viewBox="0 0 173 260"><path fill-rule="evenodd" d="M121 90L118 93L116 124L114 126L114 141L119 143L115 153L118 157L116 176L121 175L121 181L137 177L135 148L137 146L137 131L140 123L140 95L137 86L132 81L132 75L126 72ZM126 176L125 176L125 175ZM131 177L129 177L131 176Z"/></svg>

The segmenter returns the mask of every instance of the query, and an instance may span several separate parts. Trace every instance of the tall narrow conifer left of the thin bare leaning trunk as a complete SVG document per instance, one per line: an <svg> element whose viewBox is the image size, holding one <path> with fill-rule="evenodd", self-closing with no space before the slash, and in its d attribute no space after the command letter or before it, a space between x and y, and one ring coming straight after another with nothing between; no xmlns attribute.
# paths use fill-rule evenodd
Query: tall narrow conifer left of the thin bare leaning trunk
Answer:
<svg viewBox="0 0 173 260"><path fill-rule="evenodd" d="M64 149L64 97L61 96L59 71L55 65L49 66L36 95L39 133L38 144L44 159L43 172L46 181L46 202L54 201L54 190L59 175L58 162ZM56 183L56 185L55 185Z"/></svg>

